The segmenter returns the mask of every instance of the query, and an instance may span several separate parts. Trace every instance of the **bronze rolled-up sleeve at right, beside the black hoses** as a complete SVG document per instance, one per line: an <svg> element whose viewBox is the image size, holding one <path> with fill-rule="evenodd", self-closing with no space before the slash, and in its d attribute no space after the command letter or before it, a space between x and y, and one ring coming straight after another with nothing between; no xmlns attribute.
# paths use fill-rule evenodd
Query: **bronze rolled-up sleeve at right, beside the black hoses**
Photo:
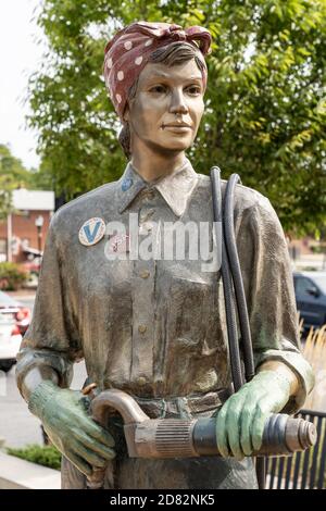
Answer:
<svg viewBox="0 0 326 511"><path fill-rule="evenodd" d="M248 302L255 369L267 360L288 365L300 388L286 407L299 410L314 385L312 367L300 351L292 271L279 220L265 197L246 209L238 223L237 244ZM241 258L241 254L244 254Z"/></svg>

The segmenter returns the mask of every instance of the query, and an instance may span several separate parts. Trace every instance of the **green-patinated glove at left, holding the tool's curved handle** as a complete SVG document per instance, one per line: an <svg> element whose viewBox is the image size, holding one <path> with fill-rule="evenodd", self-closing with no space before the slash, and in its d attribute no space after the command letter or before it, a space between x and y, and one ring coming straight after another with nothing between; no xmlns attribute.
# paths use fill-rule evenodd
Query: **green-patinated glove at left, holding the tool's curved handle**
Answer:
<svg viewBox="0 0 326 511"><path fill-rule="evenodd" d="M54 446L85 475L114 458L114 440L88 415L89 398L50 381L32 394L28 408L40 419Z"/></svg>

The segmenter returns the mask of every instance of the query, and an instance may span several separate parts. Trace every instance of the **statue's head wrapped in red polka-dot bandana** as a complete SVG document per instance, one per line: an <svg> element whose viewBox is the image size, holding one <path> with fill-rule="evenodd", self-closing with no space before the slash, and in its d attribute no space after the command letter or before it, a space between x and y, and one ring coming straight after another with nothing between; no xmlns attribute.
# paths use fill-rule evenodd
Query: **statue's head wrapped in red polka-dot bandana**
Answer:
<svg viewBox="0 0 326 511"><path fill-rule="evenodd" d="M191 146L203 114L210 43L205 28L145 22L108 43L105 84L123 123L120 141L127 157L135 144L162 152Z"/></svg>

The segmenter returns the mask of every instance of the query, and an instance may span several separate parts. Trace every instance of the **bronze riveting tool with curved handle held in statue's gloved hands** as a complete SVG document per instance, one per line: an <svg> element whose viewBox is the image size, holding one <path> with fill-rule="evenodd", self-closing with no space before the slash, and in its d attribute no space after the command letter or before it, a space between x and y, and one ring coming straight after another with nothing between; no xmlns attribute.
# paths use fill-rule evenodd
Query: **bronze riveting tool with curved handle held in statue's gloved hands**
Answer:
<svg viewBox="0 0 326 511"><path fill-rule="evenodd" d="M124 433L130 458L189 458L220 456L216 417L150 419L126 392L104 390L91 403L92 417L105 427L108 412L117 411L124 420ZM316 441L313 423L283 413L272 414L265 423L262 447L252 456L289 456L312 447ZM104 472L95 470L89 487L102 487Z"/></svg>

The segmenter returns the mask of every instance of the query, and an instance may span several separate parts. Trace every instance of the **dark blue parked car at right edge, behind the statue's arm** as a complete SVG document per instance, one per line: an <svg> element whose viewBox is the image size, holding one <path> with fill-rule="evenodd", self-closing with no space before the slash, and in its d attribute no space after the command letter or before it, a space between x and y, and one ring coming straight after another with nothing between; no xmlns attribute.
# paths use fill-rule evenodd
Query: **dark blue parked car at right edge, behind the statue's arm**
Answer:
<svg viewBox="0 0 326 511"><path fill-rule="evenodd" d="M326 323L326 272L293 273L297 309L305 329Z"/></svg>

